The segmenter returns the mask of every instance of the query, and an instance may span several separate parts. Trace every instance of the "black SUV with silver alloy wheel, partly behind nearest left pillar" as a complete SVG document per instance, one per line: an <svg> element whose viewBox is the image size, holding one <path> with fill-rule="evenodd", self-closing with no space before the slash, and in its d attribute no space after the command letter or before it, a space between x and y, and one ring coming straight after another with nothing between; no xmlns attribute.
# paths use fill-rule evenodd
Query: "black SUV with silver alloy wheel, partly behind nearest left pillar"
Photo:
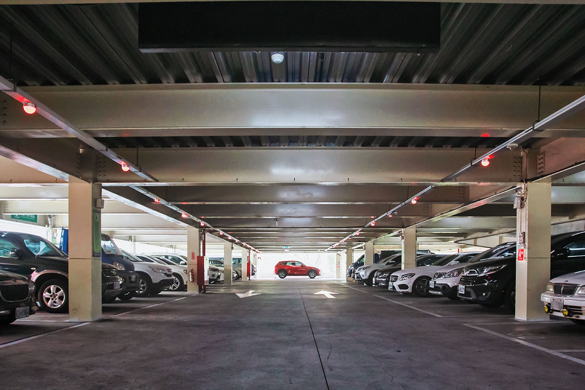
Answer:
<svg viewBox="0 0 585 390"><path fill-rule="evenodd" d="M34 234L0 232L0 270L30 277L43 310L66 313L69 303L67 255ZM122 292L118 270L102 263L102 297Z"/></svg>

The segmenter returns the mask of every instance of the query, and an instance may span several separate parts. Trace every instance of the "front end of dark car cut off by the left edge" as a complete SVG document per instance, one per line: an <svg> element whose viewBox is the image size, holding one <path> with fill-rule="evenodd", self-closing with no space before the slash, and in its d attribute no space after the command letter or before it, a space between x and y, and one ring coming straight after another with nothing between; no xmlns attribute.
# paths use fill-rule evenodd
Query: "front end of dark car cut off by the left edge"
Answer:
<svg viewBox="0 0 585 390"><path fill-rule="evenodd" d="M0 271L0 325L34 314L35 284L29 278Z"/></svg>

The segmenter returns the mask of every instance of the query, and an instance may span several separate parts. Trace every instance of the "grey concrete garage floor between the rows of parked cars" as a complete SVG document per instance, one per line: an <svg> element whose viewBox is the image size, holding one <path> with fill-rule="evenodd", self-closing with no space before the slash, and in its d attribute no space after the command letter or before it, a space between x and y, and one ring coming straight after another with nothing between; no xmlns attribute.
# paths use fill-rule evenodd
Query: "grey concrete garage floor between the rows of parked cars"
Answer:
<svg viewBox="0 0 585 390"><path fill-rule="evenodd" d="M568 321L318 279L210 291L117 301L94 323L18 320L0 330L1 387L584 388L585 327Z"/></svg>

